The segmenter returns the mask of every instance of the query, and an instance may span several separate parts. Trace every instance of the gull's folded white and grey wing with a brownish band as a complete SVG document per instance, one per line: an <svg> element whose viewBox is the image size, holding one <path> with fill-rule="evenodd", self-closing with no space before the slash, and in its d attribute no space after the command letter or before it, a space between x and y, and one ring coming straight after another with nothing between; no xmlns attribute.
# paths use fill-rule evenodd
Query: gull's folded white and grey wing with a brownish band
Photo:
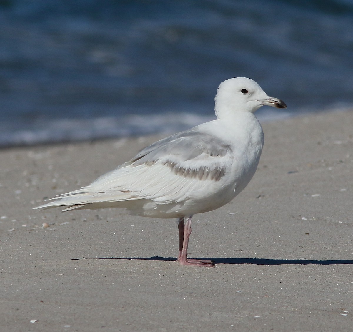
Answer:
<svg viewBox="0 0 353 332"><path fill-rule="evenodd" d="M59 195L38 208L90 208L92 203L143 198L157 204L181 202L200 190L211 193L208 188L214 188L231 162L231 145L196 127L153 143L89 186Z"/></svg>

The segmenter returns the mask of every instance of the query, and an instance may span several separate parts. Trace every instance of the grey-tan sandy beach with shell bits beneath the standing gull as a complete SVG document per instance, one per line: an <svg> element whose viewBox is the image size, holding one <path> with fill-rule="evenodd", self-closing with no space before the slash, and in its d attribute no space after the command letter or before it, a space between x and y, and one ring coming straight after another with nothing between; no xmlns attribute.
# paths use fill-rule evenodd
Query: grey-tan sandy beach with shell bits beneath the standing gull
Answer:
<svg viewBox="0 0 353 332"><path fill-rule="evenodd" d="M0 330L351 331L353 111L263 129L247 188L193 218L214 268L176 262L175 220L32 210L161 136L1 150Z"/></svg>

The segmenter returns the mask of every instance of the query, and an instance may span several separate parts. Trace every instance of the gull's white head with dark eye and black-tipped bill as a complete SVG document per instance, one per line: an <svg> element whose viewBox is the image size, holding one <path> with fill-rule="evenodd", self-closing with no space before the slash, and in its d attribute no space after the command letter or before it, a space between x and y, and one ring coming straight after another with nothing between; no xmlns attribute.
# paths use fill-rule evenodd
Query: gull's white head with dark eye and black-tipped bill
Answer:
<svg viewBox="0 0 353 332"><path fill-rule="evenodd" d="M218 118L233 112L254 113L261 106L286 108L286 104L269 97L255 81L246 77L235 77L222 82L215 97Z"/></svg>

